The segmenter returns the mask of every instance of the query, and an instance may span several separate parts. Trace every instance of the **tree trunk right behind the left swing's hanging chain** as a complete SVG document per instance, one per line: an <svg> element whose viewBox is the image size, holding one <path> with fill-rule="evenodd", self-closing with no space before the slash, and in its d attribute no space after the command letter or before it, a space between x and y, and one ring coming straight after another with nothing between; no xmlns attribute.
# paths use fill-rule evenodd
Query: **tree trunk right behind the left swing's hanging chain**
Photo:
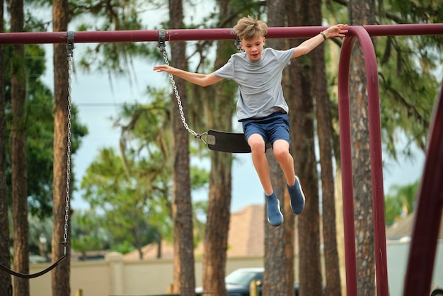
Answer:
<svg viewBox="0 0 443 296"><path fill-rule="evenodd" d="M52 29L54 32L67 31L68 1L52 2ZM70 246L71 229L67 229L67 246L64 246L64 224L67 204L67 137L68 137L68 57L66 44L54 44L54 188L52 207L54 228L52 229L52 262L64 255L67 258L52 271L52 295L70 296ZM69 213L68 213L69 214ZM69 215L70 216L70 215ZM68 219L68 225L70 225Z"/></svg>

